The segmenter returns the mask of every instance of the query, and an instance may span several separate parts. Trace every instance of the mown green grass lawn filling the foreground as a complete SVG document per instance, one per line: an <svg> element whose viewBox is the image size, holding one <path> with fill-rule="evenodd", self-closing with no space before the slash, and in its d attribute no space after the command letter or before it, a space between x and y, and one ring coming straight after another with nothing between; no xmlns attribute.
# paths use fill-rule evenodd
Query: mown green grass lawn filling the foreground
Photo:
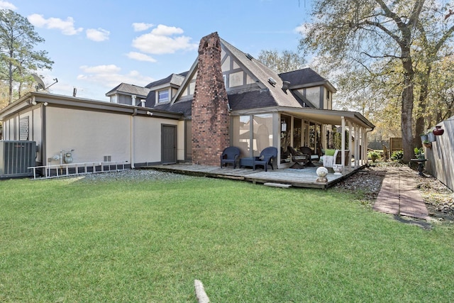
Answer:
<svg viewBox="0 0 454 303"><path fill-rule="evenodd" d="M0 181L0 302L450 302L454 228L333 189Z"/></svg>

